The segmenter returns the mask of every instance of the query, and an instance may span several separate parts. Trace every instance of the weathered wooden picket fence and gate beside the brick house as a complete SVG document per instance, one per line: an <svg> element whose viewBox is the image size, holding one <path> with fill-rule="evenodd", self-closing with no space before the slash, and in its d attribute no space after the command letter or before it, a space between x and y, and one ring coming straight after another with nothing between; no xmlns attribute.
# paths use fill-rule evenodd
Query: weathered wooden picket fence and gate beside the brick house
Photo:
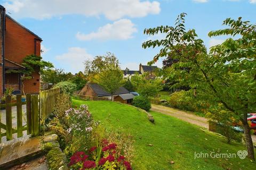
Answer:
<svg viewBox="0 0 256 170"><path fill-rule="evenodd" d="M40 133L40 125L44 124L45 119L53 111L57 96L60 89L52 89L39 92L39 95L26 95L26 102L22 102L21 95L16 95L16 101L12 101L12 96L7 95L5 104L1 104L1 108L5 108L6 123L2 123L0 114L0 143L2 137L6 136L6 140L12 140L13 134L17 133L17 138L23 136L23 131L27 130L27 134L37 136ZM22 125L22 105L26 105L26 125ZM17 128L13 128L12 106L16 106ZM4 114L2 112L2 114ZM25 118L25 117L23 117ZM1 129L5 132L2 133Z"/></svg>

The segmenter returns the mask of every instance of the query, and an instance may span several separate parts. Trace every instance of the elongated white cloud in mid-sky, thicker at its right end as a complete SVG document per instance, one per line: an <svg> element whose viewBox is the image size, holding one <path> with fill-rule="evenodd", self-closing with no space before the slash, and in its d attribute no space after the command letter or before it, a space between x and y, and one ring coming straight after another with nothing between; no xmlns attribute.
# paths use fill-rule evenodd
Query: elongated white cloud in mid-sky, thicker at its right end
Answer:
<svg viewBox="0 0 256 170"><path fill-rule="evenodd" d="M106 24L103 27L100 27L97 32L91 32L89 34L84 34L78 32L76 38L78 40L109 40L109 39L129 39L132 38L132 34L137 32L137 29L134 27L134 24L131 20L121 19L115 21L113 24Z"/></svg>

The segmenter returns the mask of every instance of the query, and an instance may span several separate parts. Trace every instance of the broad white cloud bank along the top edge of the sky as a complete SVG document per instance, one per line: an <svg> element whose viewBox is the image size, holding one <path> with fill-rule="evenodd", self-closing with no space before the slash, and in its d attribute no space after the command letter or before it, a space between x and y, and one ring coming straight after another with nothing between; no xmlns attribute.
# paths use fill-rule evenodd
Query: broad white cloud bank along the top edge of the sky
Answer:
<svg viewBox="0 0 256 170"><path fill-rule="evenodd" d="M82 14L105 15L110 20L118 20L124 16L143 17L148 14L158 14L161 11L159 2L147 0L6 0L3 6L15 18L35 19Z"/></svg>

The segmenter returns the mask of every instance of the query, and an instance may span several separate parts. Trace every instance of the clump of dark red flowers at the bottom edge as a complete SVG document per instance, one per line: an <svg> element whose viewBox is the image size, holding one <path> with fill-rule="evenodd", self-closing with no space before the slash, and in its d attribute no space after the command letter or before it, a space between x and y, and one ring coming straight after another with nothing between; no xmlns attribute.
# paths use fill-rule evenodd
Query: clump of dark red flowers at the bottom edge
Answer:
<svg viewBox="0 0 256 170"><path fill-rule="evenodd" d="M126 169L131 170L131 164L116 152L116 143L103 139L97 146L89 149L88 155L83 151L76 152L70 158L71 169Z"/></svg>

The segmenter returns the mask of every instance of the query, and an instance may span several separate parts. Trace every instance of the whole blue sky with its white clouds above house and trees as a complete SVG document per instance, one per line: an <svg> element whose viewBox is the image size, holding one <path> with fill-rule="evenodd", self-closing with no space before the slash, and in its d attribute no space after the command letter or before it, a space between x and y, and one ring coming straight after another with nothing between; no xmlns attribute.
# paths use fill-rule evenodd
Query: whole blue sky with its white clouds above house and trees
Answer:
<svg viewBox="0 0 256 170"><path fill-rule="evenodd" d="M256 22L256 0L4 0L7 14L43 39L43 59L67 72L83 71L83 62L114 53L122 69L138 70L158 49L143 49L145 28L173 25L185 12L186 28L196 29L209 48L226 37L207 37L226 18ZM161 62L157 63L161 66Z"/></svg>

